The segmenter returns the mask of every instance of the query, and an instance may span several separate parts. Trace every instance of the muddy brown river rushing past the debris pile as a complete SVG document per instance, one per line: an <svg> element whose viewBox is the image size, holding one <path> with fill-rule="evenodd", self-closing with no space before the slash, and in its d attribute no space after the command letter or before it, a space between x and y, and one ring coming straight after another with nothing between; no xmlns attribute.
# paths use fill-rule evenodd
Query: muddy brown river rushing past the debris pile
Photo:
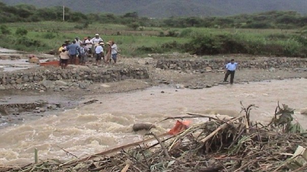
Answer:
<svg viewBox="0 0 307 172"><path fill-rule="evenodd" d="M209 89L175 89L154 87L129 93L97 96L96 103L64 112L25 120L24 123L0 130L0 164L16 165L34 162L34 149L39 159L72 159L59 147L80 157L143 139L132 125L155 123L169 116L186 112L202 113L207 109L240 111L244 105L256 104L252 120L269 121L277 101L295 108L295 120L307 127L307 117L299 114L307 107L307 79L272 80L245 84L219 85ZM161 92L164 93L161 93ZM204 119L199 119L204 120ZM193 120L193 123L199 122ZM169 130L175 120L158 123L153 130L159 134Z"/></svg>

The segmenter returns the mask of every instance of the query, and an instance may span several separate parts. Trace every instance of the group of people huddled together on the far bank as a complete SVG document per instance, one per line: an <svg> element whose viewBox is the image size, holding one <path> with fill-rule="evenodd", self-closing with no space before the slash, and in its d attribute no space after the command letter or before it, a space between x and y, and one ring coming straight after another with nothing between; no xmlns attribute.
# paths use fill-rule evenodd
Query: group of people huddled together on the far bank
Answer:
<svg viewBox="0 0 307 172"><path fill-rule="evenodd" d="M106 48L106 55L104 53L104 40L98 33L95 37L84 37L84 40L80 40L76 37L70 44L70 40L66 40L65 43L58 49L60 66L65 69L68 63L77 64L77 58L79 64L84 65L87 61L87 57L93 56L96 59L96 65L100 65L102 59L105 63L111 63L112 59L114 63L117 61L118 48L113 40L108 41Z"/></svg>

